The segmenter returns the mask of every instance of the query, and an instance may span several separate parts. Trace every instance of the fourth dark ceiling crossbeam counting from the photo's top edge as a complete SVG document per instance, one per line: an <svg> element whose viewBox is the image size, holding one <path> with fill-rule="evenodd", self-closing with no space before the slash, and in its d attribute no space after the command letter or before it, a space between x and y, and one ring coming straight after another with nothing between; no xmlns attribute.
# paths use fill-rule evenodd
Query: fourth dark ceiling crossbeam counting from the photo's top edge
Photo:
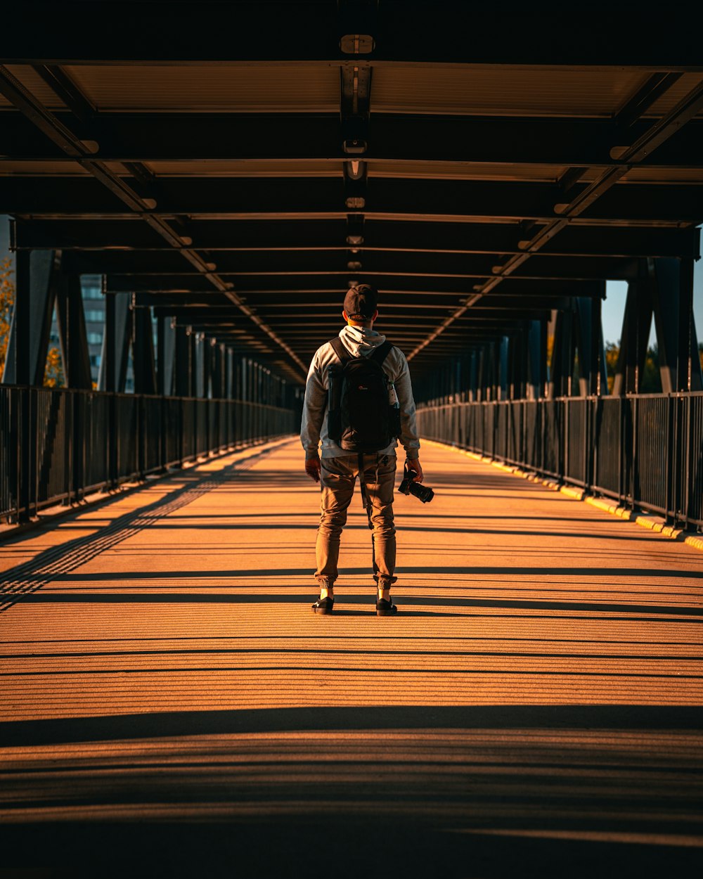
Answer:
<svg viewBox="0 0 703 879"><path fill-rule="evenodd" d="M14 221L14 243L18 250L82 251L166 251L164 242L142 222L104 220ZM286 252L324 254L346 251L339 243L346 220L337 222L279 219L193 221L187 232L198 250L223 251L266 258L267 254ZM699 229L601 227L569 224L540 250L542 256L592 257L678 257L699 258ZM438 253L494 255L520 253L521 241L528 235L520 222L394 222L370 217L364 225L364 243L360 258L366 253ZM216 259L217 257L215 257Z"/></svg>

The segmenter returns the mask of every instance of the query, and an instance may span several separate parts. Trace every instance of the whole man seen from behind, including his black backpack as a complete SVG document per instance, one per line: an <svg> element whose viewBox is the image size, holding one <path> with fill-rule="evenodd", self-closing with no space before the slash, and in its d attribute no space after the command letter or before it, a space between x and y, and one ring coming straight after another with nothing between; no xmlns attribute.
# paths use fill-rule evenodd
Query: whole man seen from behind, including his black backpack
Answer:
<svg viewBox="0 0 703 879"><path fill-rule="evenodd" d="M346 325L338 338L318 348L310 363L302 414L305 471L321 483L322 515L317 531L315 578L321 614L334 608L339 541L357 477L372 529L376 613L395 614L393 490L397 438L406 454L406 473L423 481L415 401L408 361L373 329L378 292L367 284L344 296ZM322 460L320 450L322 448Z"/></svg>

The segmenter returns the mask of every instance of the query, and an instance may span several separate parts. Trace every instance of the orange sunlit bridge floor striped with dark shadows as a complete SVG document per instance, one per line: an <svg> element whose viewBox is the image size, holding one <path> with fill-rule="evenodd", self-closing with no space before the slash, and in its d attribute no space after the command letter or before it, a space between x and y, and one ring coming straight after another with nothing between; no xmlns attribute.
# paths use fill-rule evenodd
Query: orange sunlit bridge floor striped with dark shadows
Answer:
<svg viewBox="0 0 703 879"><path fill-rule="evenodd" d="M335 613L311 611L296 441L5 542L11 866L124 875L140 846L149 875L697 875L703 553L422 460L395 618L358 497Z"/></svg>

